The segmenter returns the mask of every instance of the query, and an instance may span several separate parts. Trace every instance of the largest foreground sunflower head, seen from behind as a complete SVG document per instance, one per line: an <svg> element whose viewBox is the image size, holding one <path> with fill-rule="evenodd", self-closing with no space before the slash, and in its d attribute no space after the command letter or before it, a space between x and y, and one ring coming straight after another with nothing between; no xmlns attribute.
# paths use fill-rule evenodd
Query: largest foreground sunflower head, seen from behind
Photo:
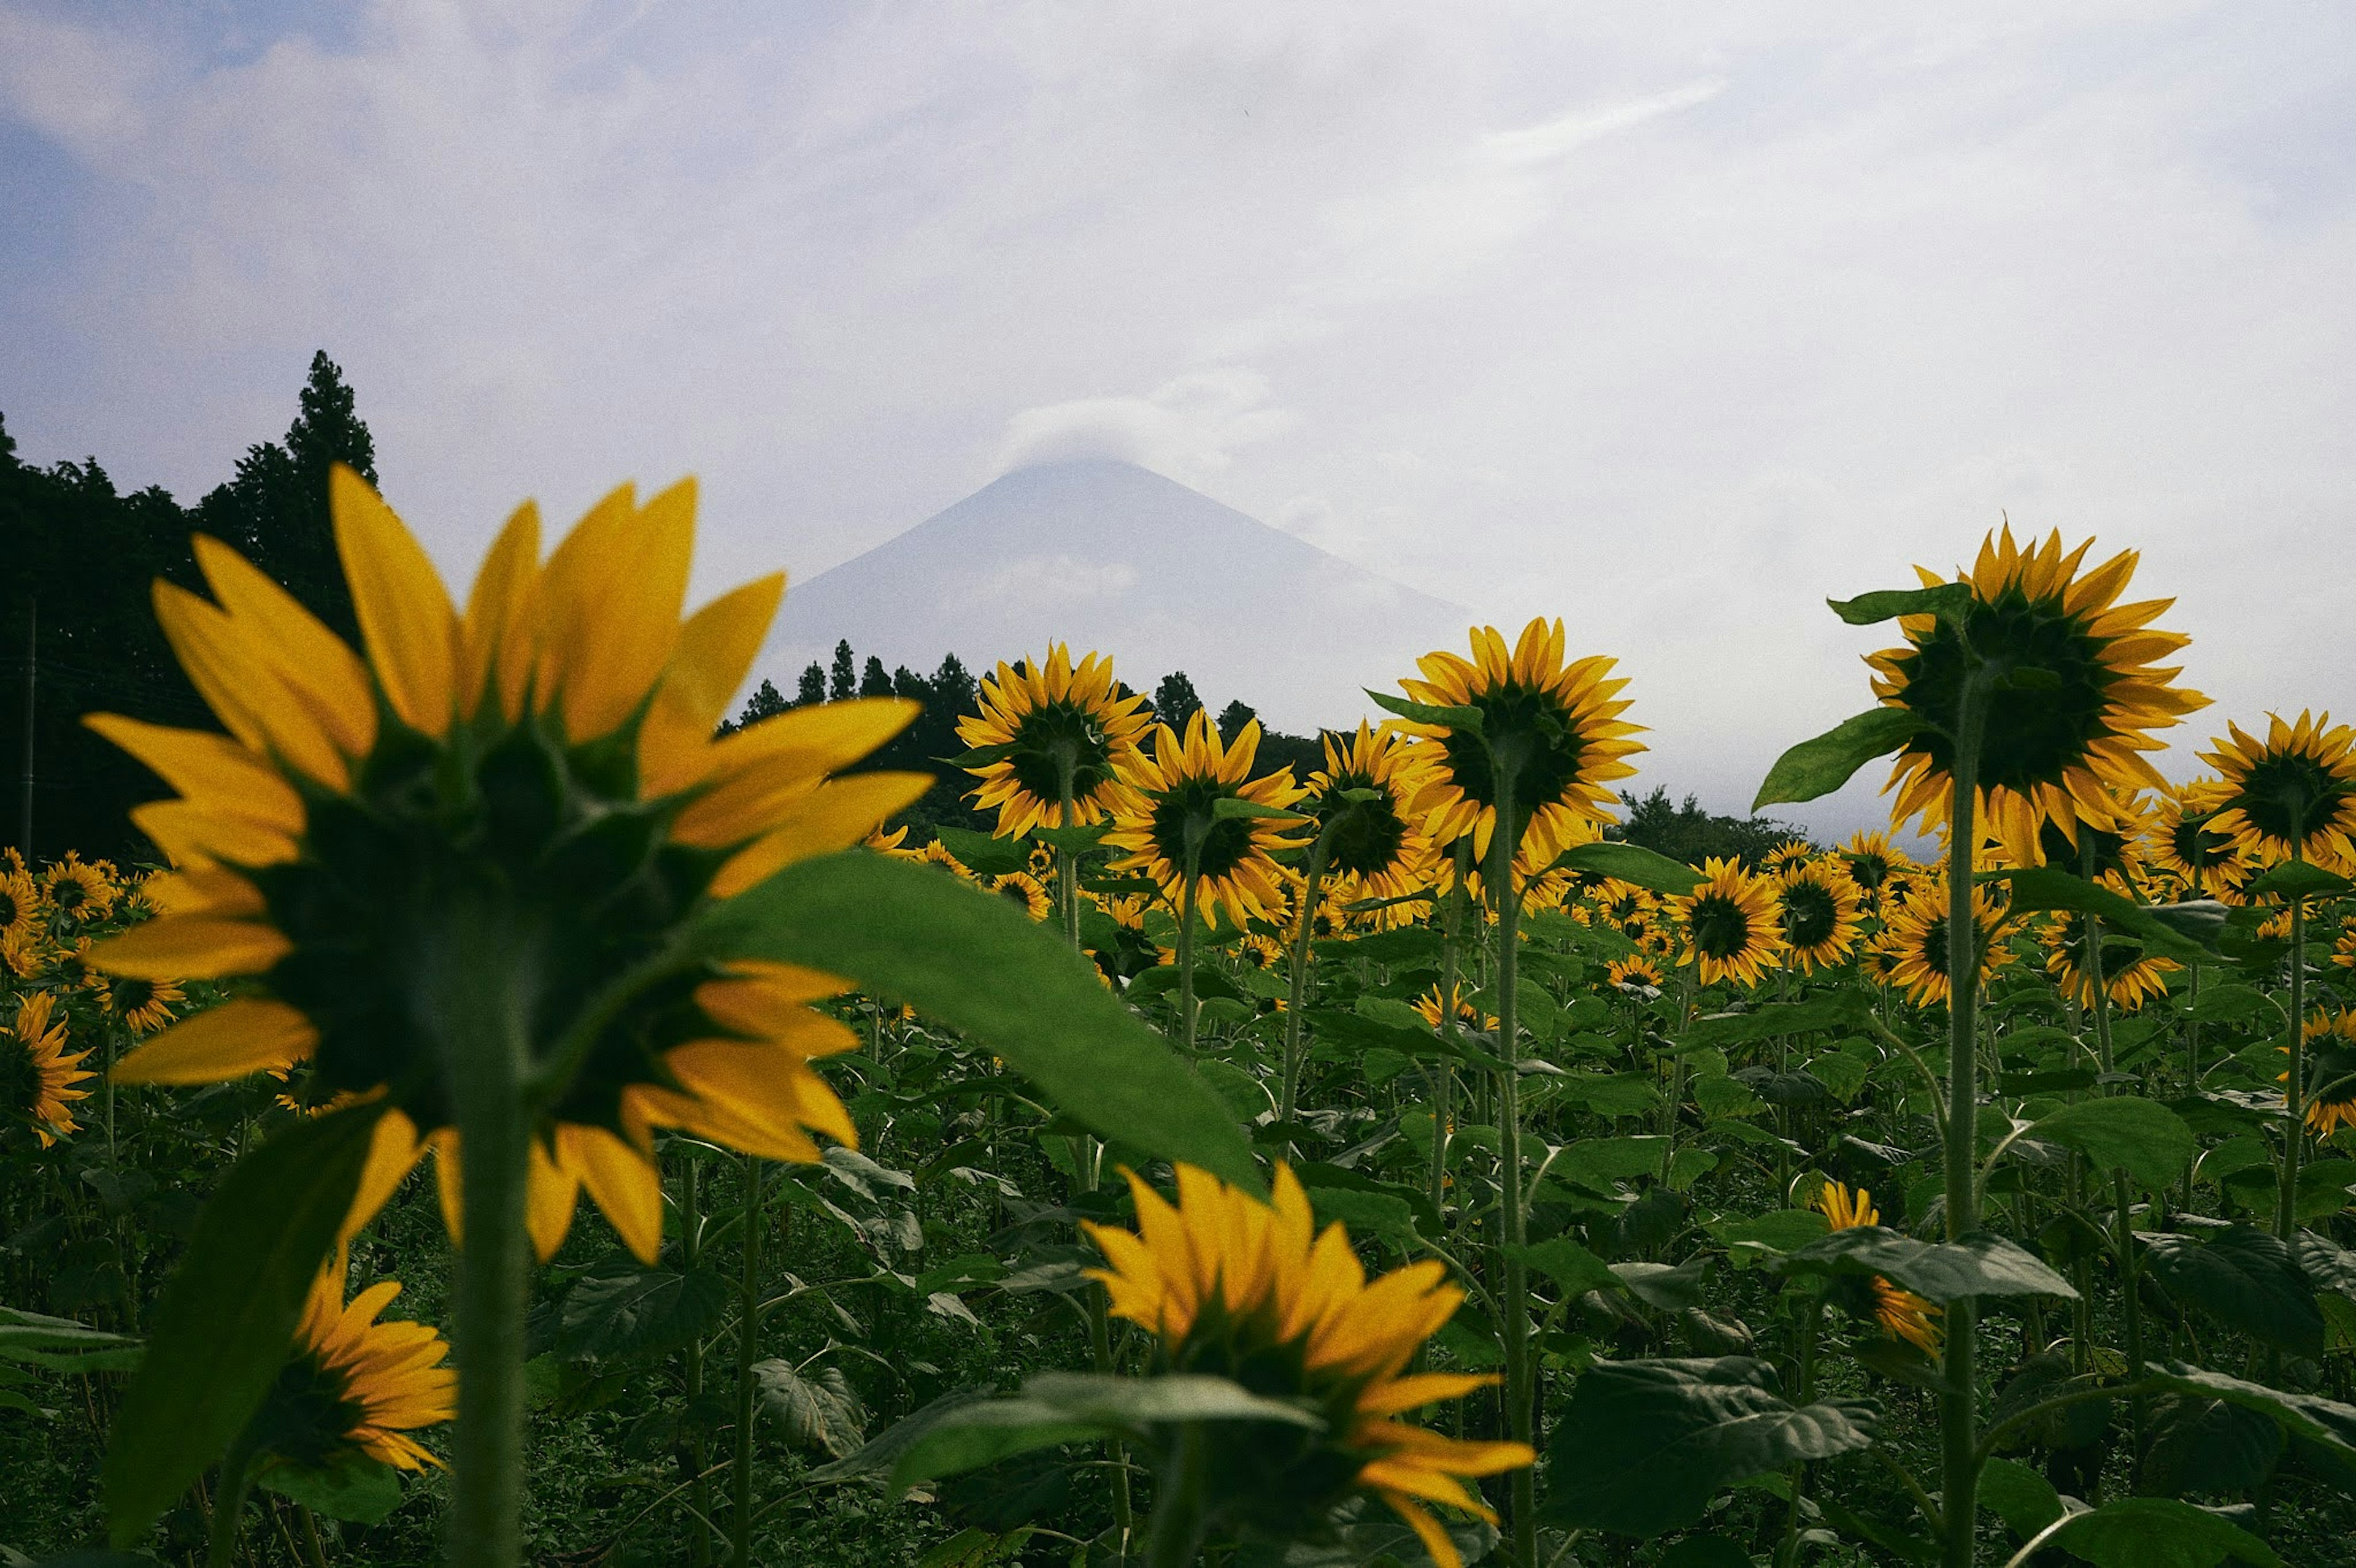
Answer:
<svg viewBox="0 0 2356 1568"><path fill-rule="evenodd" d="M535 1076L528 1222L542 1257L587 1187L653 1262L657 1125L792 1161L818 1158L813 1130L855 1142L808 1067L858 1043L810 1005L841 982L657 956L686 911L855 845L924 793L924 775L834 777L916 704L829 702L714 737L785 582L681 622L693 483L643 506L615 490L547 563L525 504L464 614L365 480L335 469L330 504L365 659L200 537L214 598L158 584L155 610L229 735L87 720L181 791L132 812L177 866L153 888L163 913L94 963L134 979L252 982L115 1071L212 1083L309 1059L313 1099L389 1107L363 1217L434 1147L455 1227L462 1064L443 1043L450 1019L478 1017L485 984L523 972L485 942L521 942L535 986L516 1050ZM591 1012L615 975L641 970L657 977Z"/></svg>

